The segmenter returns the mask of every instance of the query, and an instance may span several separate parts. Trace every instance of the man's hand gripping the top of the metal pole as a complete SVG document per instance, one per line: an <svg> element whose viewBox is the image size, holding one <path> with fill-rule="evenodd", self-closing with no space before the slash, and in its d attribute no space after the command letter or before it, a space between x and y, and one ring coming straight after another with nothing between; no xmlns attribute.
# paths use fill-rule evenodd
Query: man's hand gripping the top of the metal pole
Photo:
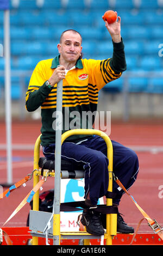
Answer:
<svg viewBox="0 0 163 256"><path fill-rule="evenodd" d="M48 79L49 84L51 84L51 86L54 86L54 84L64 79L65 75L65 67L58 66L58 68L54 70L53 75Z"/></svg>

